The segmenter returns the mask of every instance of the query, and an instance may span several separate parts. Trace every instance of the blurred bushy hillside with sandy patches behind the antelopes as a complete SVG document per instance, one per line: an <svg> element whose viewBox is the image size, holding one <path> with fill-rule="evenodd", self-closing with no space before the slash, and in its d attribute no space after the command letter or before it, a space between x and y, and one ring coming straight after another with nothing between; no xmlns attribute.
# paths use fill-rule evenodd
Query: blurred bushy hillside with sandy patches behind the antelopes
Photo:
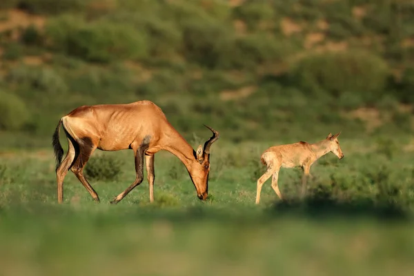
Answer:
<svg viewBox="0 0 414 276"><path fill-rule="evenodd" d="M155 101L186 137L202 123L232 142L412 129L410 0L3 0L0 8L1 147L48 145L77 106L140 99ZM31 139L10 138L19 133Z"/></svg>

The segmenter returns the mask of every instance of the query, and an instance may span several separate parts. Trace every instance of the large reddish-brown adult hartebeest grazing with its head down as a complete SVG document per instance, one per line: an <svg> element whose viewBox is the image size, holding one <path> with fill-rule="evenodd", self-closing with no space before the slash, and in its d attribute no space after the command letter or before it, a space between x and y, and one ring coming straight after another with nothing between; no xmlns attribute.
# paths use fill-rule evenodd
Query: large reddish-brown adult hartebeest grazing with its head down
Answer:
<svg viewBox="0 0 414 276"><path fill-rule="evenodd" d="M62 161L63 148L59 142L59 130L63 125L68 138L68 152ZM166 119L161 108L151 101L135 101L126 104L101 104L81 106L63 116L52 137L57 161L57 201L63 201L63 179L68 170L76 175L95 201L99 197L83 176L83 167L90 155L99 150L115 151L132 149L135 155L135 181L110 203L117 204L144 179L144 157L148 172L150 202L154 201L154 155L167 150L186 166L199 199L208 196L208 172L210 171L210 146L219 139L219 132L206 126L213 136L197 151L188 144Z"/></svg>

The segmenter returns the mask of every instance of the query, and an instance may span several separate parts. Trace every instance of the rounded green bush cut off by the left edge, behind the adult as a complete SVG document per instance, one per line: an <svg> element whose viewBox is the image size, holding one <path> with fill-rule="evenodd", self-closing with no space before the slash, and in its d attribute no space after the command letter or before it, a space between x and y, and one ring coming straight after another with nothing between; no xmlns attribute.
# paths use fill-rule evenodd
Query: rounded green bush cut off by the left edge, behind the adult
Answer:
<svg viewBox="0 0 414 276"><path fill-rule="evenodd" d="M19 130L29 117L26 104L17 95L0 90L1 130Z"/></svg>

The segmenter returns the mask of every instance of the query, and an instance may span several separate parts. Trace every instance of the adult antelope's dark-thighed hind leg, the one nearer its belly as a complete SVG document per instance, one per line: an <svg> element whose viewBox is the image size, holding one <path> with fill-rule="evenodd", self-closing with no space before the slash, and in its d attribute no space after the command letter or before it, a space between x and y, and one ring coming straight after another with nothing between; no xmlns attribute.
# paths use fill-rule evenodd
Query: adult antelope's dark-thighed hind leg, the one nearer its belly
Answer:
<svg viewBox="0 0 414 276"><path fill-rule="evenodd" d="M77 153L75 163L70 170L72 170L77 179L79 179L81 184L88 190L93 200L100 202L97 192L90 186L88 180L83 176L83 168L85 168L90 155L97 149L97 145L93 143L91 139L82 139L79 141L78 146L79 153Z"/></svg>

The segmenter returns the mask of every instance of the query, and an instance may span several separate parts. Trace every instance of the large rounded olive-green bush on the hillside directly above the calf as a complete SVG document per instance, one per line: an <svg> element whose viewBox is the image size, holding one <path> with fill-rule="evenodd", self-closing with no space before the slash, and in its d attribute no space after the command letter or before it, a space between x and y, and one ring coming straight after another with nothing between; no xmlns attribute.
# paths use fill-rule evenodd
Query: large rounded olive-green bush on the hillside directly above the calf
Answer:
<svg viewBox="0 0 414 276"><path fill-rule="evenodd" d="M342 92L361 93L376 99L388 77L386 62L369 52L346 51L315 54L297 62L290 74L304 90L325 90L335 97Z"/></svg>

